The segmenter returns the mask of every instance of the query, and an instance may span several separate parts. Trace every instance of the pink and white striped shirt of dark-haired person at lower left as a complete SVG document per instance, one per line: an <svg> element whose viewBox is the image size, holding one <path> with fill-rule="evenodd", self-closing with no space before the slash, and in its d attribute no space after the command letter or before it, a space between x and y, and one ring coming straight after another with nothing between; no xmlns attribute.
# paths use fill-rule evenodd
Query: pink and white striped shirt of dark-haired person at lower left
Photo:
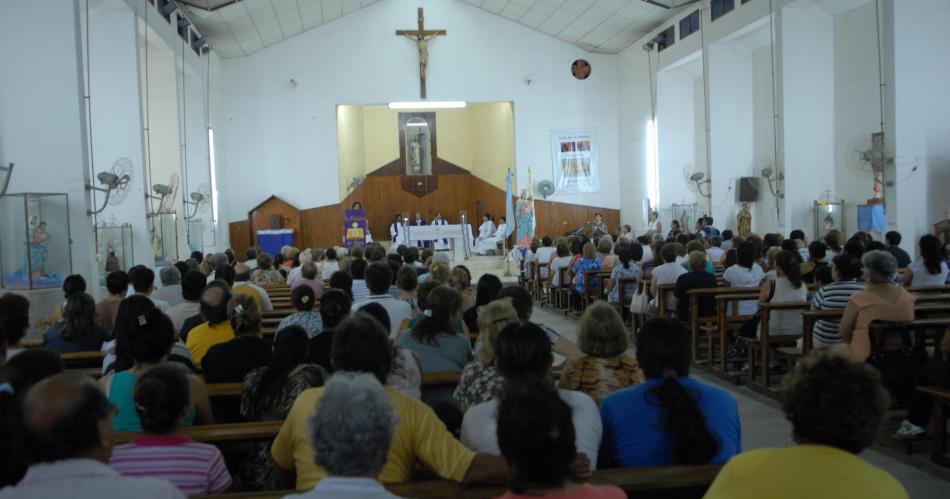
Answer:
<svg viewBox="0 0 950 499"><path fill-rule="evenodd" d="M112 450L109 459L125 476L168 480L185 495L216 494L231 486L217 447L186 436L143 436Z"/></svg>

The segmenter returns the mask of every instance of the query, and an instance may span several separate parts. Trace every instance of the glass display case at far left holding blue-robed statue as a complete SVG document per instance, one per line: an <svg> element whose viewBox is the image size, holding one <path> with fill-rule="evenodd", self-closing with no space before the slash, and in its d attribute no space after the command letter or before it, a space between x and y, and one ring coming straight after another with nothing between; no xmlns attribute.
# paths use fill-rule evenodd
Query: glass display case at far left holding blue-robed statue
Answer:
<svg viewBox="0 0 950 499"><path fill-rule="evenodd" d="M69 196L0 197L0 287L58 288L72 273Z"/></svg>

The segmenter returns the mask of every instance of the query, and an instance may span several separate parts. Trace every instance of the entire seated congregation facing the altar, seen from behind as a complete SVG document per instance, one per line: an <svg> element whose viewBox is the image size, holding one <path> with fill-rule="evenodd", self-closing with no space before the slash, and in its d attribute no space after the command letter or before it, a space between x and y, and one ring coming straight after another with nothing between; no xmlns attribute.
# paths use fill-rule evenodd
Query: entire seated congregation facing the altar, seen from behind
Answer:
<svg viewBox="0 0 950 499"><path fill-rule="evenodd" d="M837 231L810 243L801 231L720 233L709 217L697 229L544 237L523 249L524 286L490 273L473 286L444 253L406 246L252 247L243 261L195 252L163 268L159 287L145 266L109 273L99 303L69 276L32 342L30 302L4 294L0 498L385 498L396 497L387 485L431 479L507 484L511 498L613 498L626 493L586 483L592 472L706 464L724 465L712 498L907 497L858 456L899 396L882 383L870 328L914 319L907 287L948 282L940 241L922 237L911 261L896 232L842 244ZM784 380L795 445L744 452L736 400L690 376L691 316L714 315L715 303L692 310L689 292L717 286L757 293L739 305L748 315L781 302L842 311L816 322L814 351ZM532 321L559 288L579 317L576 343ZM644 319L635 333L627 312ZM800 334L800 311L769 326ZM730 338L730 356L756 327ZM68 369L77 352L101 354L98 382ZM914 369L911 388L950 387L947 360ZM426 385L446 373L455 380ZM240 387L235 414L212 402L225 383ZM919 435L932 407L908 396L897 432ZM226 459L189 436L220 421L279 430Z"/></svg>

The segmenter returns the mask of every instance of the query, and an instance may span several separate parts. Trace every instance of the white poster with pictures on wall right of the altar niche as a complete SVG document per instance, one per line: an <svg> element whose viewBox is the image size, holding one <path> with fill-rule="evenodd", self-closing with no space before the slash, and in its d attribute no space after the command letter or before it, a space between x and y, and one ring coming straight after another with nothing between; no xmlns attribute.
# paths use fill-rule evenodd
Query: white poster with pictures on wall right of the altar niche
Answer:
<svg viewBox="0 0 950 499"><path fill-rule="evenodd" d="M600 192L595 129L551 130L551 157L556 192Z"/></svg>

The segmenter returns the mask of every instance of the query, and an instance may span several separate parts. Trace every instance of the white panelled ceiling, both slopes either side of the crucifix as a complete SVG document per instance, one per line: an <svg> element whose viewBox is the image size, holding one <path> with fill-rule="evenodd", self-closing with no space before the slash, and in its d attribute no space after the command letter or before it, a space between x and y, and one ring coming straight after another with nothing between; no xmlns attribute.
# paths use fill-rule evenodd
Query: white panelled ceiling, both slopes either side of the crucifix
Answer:
<svg viewBox="0 0 950 499"><path fill-rule="evenodd" d="M252 54L378 1L239 0L213 11L185 8L218 55L232 58ZM452 1L464 1L584 50L608 54L629 47L679 11L643 0Z"/></svg>

